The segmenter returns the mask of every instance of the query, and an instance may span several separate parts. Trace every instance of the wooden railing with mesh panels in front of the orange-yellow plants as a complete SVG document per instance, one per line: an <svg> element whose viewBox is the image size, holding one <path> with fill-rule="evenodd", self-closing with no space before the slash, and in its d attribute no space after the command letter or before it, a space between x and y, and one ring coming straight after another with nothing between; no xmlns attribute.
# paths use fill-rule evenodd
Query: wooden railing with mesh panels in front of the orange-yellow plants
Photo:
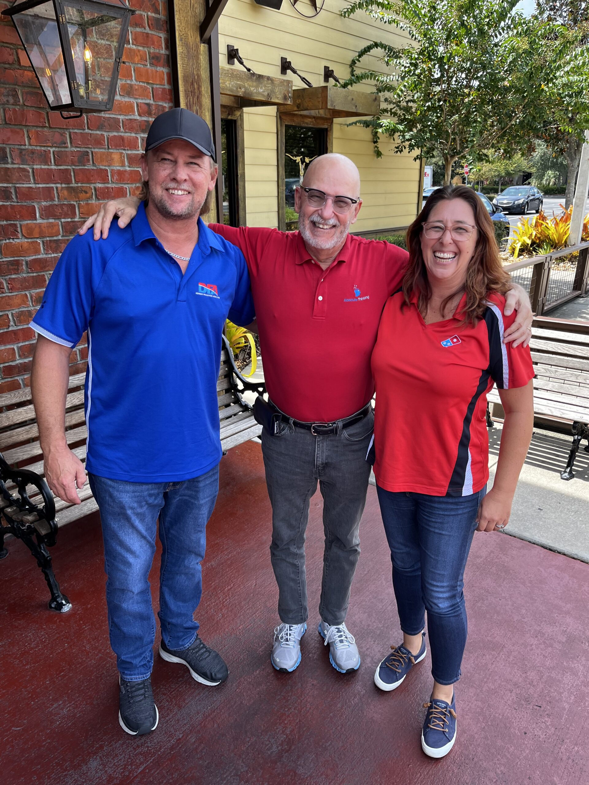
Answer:
<svg viewBox="0 0 589 785"><path fill-rule="evenodd" d="M559 264L562 257L576 254ZM555 250L547 256L516 261L505 265L514 283L527 290L536 316L548 313L569 300L589 291L589 243Z"/></svg>

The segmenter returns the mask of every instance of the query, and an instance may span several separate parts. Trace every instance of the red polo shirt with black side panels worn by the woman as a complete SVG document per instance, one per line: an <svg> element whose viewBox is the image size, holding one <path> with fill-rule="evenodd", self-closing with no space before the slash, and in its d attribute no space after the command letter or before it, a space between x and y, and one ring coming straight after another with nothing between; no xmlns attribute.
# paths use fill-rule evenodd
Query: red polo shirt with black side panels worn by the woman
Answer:
<svg viewBox="0 0 589 785"><path fill-rule="evenodd" d="M515 313L490 294L474 327L452 319L427 324L417 298L386 303L372 353L376 385L375 476L386 491L434 496L477 493L488 480L487 392L524 387L534 377L530 351L503 343Z"/></svg>

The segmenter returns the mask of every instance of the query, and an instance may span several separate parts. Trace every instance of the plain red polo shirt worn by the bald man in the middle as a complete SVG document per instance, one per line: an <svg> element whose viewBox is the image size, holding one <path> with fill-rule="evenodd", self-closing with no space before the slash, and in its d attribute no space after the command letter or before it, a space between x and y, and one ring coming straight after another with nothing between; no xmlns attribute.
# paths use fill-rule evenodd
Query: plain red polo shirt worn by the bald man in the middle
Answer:
<svg viewBox="0 0 589 785"><path fill-rule="evenodd" d="M298 232L210 228L246 257L276 406L303 422L333 422L364 407L374 393L370 358L382 308L401 283L407 251L348 235L322 270Z"/></svg>

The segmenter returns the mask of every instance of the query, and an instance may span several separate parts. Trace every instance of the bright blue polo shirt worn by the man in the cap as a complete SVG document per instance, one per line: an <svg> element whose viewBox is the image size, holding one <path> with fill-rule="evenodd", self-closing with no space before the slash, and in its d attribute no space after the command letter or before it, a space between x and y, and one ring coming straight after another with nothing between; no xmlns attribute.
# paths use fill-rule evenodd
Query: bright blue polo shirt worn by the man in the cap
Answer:
<svg viewBox="0 0 589 785"><path fill-rule="evenodd" d="M130 225L68 243L31 322L75 346L88 332L86 468L113 480L188 480L221 459L221 330L254 318L239 249L199 219L184 276L141 204Z"/></svg>

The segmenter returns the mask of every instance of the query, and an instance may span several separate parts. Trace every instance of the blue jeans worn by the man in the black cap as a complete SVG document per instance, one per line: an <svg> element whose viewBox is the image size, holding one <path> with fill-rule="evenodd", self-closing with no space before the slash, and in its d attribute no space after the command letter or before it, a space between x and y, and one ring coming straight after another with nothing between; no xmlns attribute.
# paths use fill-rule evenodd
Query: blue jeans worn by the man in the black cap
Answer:
<svg viewBox="0 0 589 785"><path fill-rule="evenodd" d="M89 475L101 512L107 574L108 632L119 673L141 681L152 672L155 616L149 571L159 519L162 564L159 621L168 648L188 648L196 637L205 528L219 486L219 467L177 483L130 483Z"/></svg>

